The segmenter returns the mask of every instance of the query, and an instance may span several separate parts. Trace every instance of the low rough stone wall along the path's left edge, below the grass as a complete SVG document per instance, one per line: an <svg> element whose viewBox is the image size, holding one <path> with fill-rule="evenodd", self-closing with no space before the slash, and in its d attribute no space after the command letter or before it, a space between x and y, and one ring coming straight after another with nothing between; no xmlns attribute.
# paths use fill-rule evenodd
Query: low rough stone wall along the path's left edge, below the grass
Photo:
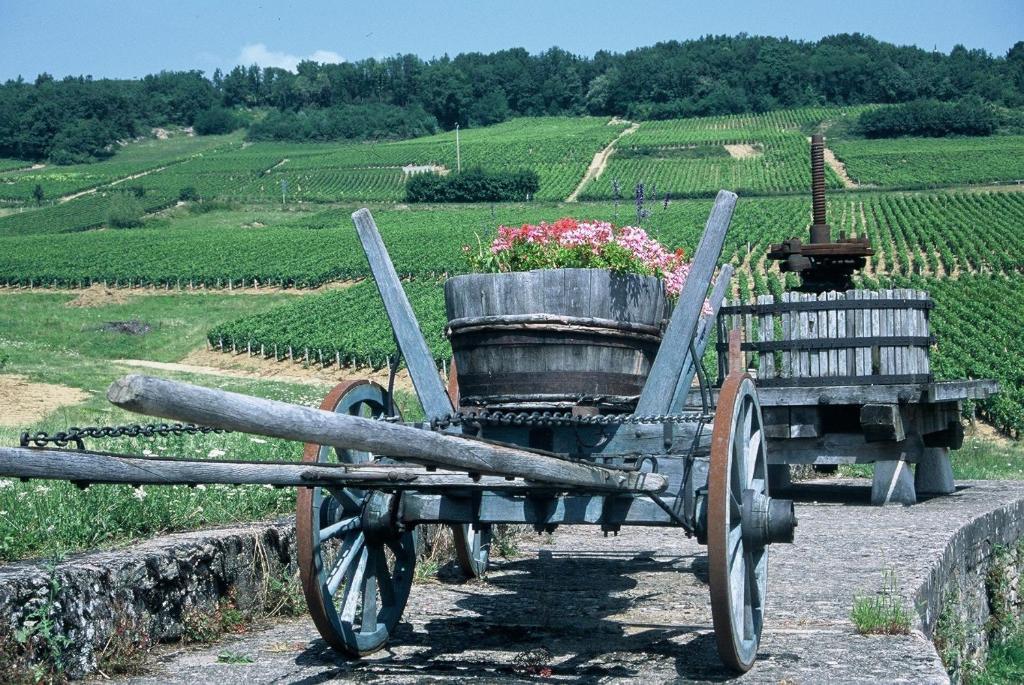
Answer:
<svg viewBox="0 0 1024 685"><path fill-rule="evenodd" d="M288 519L0 566L0 653L10 668L19 652L38 658L59 649L63 674L82 677L124 641L187 637L189 620L212 615L225 597L246 611L265 601L270 579L296 572Z"/></svg>

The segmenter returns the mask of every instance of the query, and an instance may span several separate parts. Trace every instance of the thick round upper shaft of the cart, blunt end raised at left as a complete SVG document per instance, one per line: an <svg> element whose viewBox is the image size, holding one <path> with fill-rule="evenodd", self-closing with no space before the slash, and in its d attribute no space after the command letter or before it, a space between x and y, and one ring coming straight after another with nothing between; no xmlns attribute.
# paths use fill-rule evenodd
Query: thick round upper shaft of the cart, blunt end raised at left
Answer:
<svg viewBox="0 0 1024 685"><path fill-rule="evenodd" d="M470 473L521 477L595 490L660 491L668 484L657 474L611 471L485 440L148 376L130 375L115 381L106 391L106 398L124 410L147 416L359 449Z"/></svg>

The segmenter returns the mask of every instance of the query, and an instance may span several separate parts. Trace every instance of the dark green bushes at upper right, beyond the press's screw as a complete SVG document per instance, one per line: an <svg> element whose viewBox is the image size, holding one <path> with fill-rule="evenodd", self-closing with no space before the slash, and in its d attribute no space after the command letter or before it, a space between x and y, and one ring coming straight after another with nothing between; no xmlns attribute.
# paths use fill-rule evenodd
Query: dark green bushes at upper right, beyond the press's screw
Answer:
<svg viewBox="0 0 1024 685"><path fill-rule="evenodd" d="M995 109L978 96L955 102L935 99L868 110L857 119L855 130L868 138L905 135L991 135L999 124Z"/></svg>

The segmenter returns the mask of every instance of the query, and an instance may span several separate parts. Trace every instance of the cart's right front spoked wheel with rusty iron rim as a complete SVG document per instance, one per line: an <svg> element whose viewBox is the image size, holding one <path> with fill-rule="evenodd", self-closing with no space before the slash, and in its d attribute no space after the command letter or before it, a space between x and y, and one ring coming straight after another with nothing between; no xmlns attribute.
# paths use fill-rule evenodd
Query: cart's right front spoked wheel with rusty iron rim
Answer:
<svg viewBox="0 0 1024 685"><path fill-rule="evenodd" d="M739 672L754 666L764 623L768 548L744 537L743 517L750 516L754 496L768 495L767 465L754 381L730 374L722 384L712 430L708 563L718 653Z"/></svg>

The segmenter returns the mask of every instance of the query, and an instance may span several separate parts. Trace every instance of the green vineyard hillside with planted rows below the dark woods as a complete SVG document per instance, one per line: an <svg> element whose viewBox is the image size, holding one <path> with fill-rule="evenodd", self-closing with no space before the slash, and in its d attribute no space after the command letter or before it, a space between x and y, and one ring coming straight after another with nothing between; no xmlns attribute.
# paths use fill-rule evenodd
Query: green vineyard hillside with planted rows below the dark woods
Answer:
<svg viewBox="0 0 1024 685"><path fill-rule="evenodd" d="M786 281L768 245L809 221L807 136L824 130L829 221L876 247L869 287L931 290L939 308L936 369L994 376L1005 391L986 406L1001 429L1024 428L1024 379L1008 358L1024 352L1024 136L864 139L850 122L865 108L803 108L628 122L597 117L516 119L454 133L378 143L245 142L241 135L172 135L130 143L108 161L0 172L0 283L29 288L315 288L368 274L348 215L372 205L439 362L439 279L467 268L464 245L501 223L561 216L635 223L691 251L720 187L742 201L726 259L734 296L777 294ZM536 170L529 203L401 204L406 167ZM589 170L589 171L588 171ZM41 187L41 206L33 191ZM580 202L566 203L579 190ZM115 220L125 205L130 228ZM118 221L120 221L118 219ZM130 224L129 224L130 225ZM792 276L790 276L792 277ZM973 303L1002 307L978 325ZM1001 303L1008 303L1002 305ZM217 349L316 365L379 367L393 342L368 285L289 301L217 322ZM270 363L270 362L267 362Z"/></svg>

